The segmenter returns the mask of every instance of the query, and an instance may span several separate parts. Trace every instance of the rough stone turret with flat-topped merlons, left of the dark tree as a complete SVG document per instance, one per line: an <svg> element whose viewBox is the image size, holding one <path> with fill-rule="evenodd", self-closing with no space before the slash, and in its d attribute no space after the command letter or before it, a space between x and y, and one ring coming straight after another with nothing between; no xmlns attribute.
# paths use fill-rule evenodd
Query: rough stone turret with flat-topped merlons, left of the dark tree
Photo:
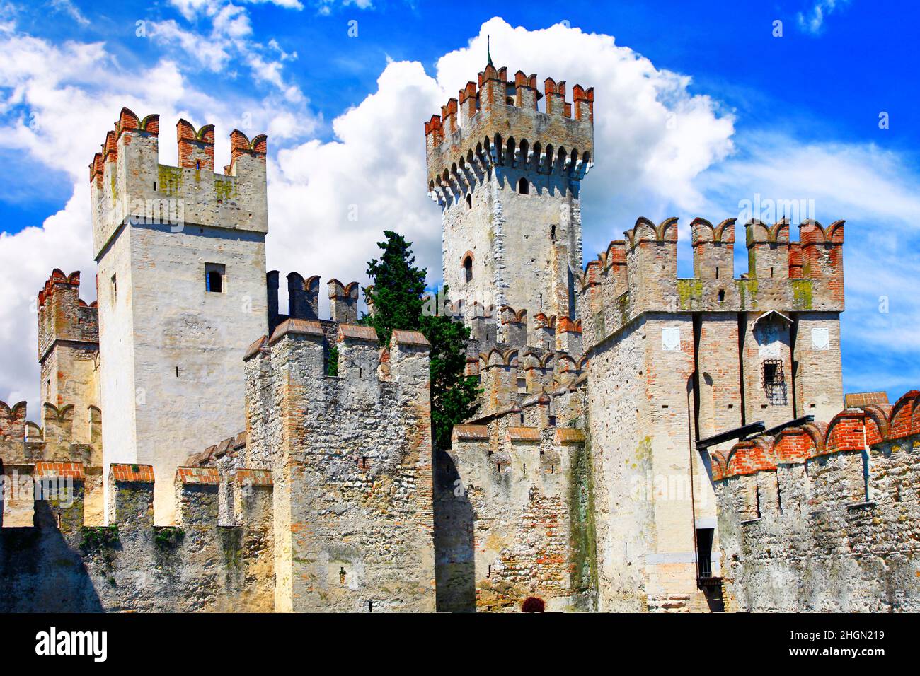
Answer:
<svg viewBox="0 0 920 676"><path fill-rule="evenodd" d="M428 342L289 319L247 356L247 453L275 476L279 611L434 610ZM263 402L270 402L262 406Z"/></svg>

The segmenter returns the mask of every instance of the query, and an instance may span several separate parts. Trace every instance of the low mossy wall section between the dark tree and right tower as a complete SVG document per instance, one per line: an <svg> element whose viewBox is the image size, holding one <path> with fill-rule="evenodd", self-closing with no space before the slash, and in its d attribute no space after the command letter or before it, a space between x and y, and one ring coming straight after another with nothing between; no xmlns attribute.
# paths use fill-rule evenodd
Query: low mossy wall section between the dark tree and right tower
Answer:
<svg viewBox="0 0 920 676"><path fill-rule="evenodd" d="M592 608L584 435L547 426L547 408L454 427L436 480L440 611L519 612L531 596L550 611Z"/></svg>

